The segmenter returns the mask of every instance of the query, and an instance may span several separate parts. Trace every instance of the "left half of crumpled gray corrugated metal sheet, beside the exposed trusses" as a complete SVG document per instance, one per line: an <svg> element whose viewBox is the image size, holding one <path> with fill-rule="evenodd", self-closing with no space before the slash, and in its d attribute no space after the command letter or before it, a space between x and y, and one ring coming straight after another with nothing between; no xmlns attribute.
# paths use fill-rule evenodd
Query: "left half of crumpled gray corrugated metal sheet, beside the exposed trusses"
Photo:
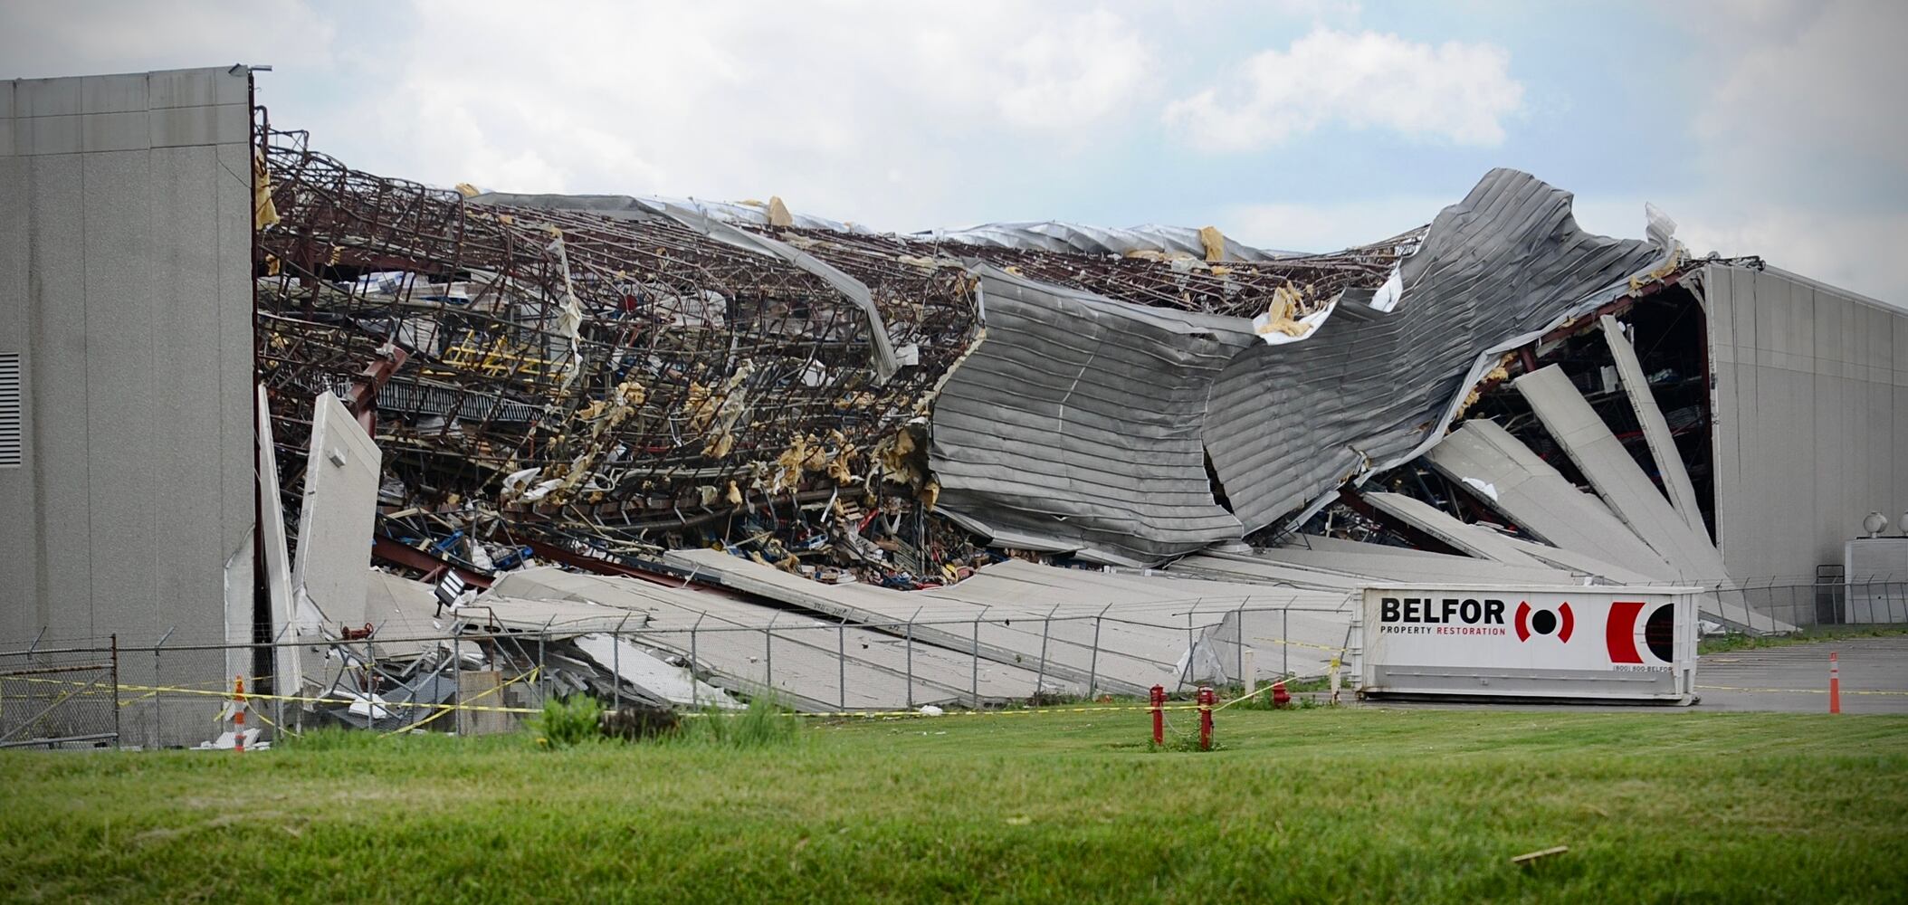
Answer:
<svg viewBox="0 0 1908 905"><path fill-rule="evenodd" d="M986 338L935 405L939 504L973 523L1147 563L1240 537L1200 420L1242 321L1044 286L979 265Z"/></svg>

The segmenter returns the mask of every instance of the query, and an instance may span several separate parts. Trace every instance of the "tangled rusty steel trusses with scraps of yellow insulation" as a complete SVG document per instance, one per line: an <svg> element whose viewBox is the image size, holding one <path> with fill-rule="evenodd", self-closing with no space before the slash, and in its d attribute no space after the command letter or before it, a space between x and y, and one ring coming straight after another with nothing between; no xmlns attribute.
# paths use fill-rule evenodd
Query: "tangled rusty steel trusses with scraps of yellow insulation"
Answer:
<svg viewBox="0 0 1908 905"><path fill-rule="evenodd" d="M332 389L384 451L380 535L477 571L546 542L958 579L1004 556L933 516L935 395L985 336L971 265L1301 330L1421 241L1082 254L469 197L351 170L301 132L261 130L261 147L258 361L288 523L311 397Z"/></svg>

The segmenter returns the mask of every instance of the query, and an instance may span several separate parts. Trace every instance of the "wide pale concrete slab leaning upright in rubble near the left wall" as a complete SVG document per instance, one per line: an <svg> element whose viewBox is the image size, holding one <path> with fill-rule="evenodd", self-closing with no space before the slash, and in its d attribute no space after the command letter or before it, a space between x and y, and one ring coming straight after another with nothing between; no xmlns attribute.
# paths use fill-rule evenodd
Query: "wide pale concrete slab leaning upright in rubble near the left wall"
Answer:
<svg viewBox="0 0 1908 905"><path fill-rule="evenodd" d="M380 460L378 445L351 410L330 391L319 393L313 403L292 594L303 594L321 613L330 607L351 613L364 605ZM307 603L300 603L300 621L305 619L303 605Z"/></svg>

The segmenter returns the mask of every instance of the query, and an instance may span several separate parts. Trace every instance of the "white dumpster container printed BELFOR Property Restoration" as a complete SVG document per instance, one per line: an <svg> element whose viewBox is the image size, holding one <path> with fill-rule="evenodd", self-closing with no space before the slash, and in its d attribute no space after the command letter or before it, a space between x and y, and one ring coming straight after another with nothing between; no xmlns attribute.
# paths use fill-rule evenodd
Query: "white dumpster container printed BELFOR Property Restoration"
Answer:
<svg viewBox="0 0 1908 905"><path fill-rule="evenodd" d="M1360 693L1687 705L1698 588L1368 588Z"/></svg>

